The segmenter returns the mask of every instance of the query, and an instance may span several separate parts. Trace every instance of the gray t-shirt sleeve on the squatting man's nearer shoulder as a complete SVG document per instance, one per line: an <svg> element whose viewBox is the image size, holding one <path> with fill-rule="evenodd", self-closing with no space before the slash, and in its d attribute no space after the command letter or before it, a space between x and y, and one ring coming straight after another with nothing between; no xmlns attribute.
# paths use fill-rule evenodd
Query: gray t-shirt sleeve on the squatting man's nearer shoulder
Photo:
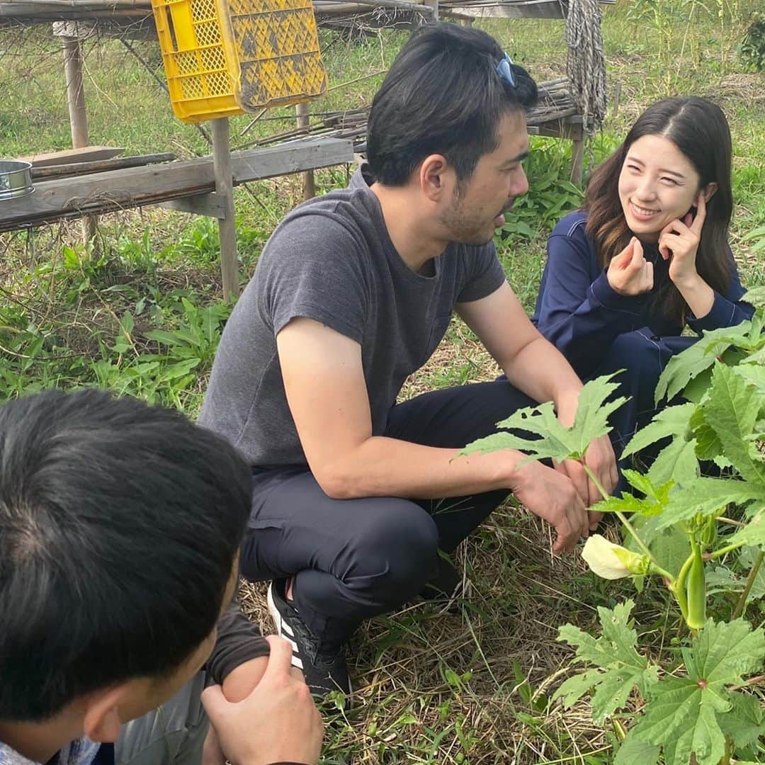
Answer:
<svg viewBox="0 0 765 765"><path fill-rule="evenodd" d="M363 241L330 216L297 216L278 229L259 263L274 337L304 317L360 343L368 303L365 255Z"/></svg>

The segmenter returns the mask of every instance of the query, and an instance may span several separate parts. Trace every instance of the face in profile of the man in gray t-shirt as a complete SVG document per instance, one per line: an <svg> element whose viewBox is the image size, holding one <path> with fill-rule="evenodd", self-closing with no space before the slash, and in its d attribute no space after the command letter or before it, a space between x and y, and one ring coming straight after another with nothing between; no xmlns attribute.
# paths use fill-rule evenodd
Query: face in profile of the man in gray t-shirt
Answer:
<svg viewBox="0 0 765 765"><path fill-rule="evenodd" d="M483 155L470 178L457 185L454 198L441 213L448 239L469 245L489 243L505 223L513 200L526 194L529 181L521 161L529 153L526 116L509 112L497 127L499 145Z"/></svg>

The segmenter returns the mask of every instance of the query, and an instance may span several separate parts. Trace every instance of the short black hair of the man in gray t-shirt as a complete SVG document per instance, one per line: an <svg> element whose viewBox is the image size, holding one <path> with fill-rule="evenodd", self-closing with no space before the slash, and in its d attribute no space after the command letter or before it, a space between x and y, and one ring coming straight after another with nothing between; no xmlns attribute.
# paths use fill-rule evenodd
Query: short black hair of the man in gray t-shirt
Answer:
<svg viewBox="0 0 765 765"><path fill-rule="evenodd" d="M374 97L366 156L379 183L402 186L426 157L443 155L470 177L479 158L498 145L508 112L523 112L537 98L523 67L509 65L515 85L500 77L505 56L493 37L454 24L418 28L399 51Z"/></svg>

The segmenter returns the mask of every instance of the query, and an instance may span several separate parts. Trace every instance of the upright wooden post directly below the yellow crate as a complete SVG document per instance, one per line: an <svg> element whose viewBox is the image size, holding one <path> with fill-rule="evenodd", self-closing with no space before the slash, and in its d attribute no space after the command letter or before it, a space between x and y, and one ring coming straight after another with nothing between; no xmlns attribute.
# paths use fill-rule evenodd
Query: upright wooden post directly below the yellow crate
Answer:
<svg viewBox="0 0 765 765"><path fill-rule="evenodd" d="M233 180L229 120L213 119L213 164L215 194L223 203L224 216L218 218L220 235L220 270L223 275L223 299L239 297L239 268L236 264L236 220L234 218Z"/></svg>

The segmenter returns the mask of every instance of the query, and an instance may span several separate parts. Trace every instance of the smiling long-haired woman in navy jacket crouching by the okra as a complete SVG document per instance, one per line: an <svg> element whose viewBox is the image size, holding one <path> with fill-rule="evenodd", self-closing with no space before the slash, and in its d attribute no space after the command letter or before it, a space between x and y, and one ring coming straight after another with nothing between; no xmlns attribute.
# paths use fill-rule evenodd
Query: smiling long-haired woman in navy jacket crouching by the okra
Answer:
<svg viewBox="0 0 765 765"><path fill-rule="evenodd" d="M549 238L532 321L581 378L627 370L617 381L631 399L611 418L617 457L653 417L672 355L753 313L728 246L732 210L723 112L669 98L643 112Z"/></svg>

